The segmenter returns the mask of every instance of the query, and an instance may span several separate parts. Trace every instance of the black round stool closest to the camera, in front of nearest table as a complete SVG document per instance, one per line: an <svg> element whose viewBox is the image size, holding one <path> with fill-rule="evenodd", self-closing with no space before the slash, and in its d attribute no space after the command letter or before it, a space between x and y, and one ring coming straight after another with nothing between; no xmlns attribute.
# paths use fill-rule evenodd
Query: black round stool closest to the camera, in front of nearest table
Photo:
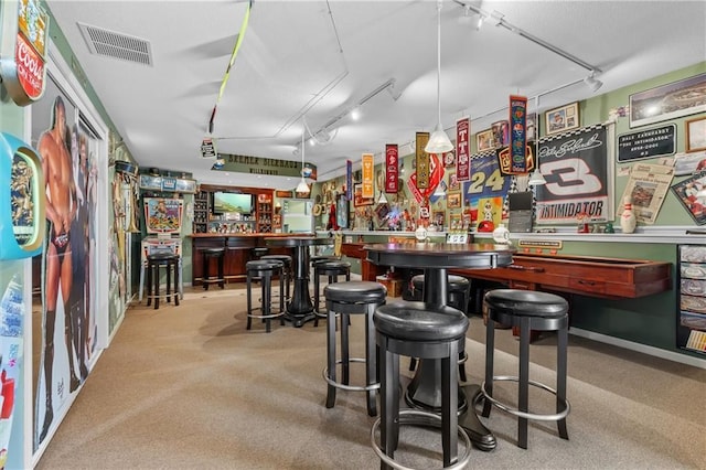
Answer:
<svg viewBox="0 0 706 470"><path fill-rule="evenodd" d="M425 302L397 301L378 307L373 316L379 346L381 417L373 424L371 442L381 458L381 468L406 468L394 460L400 425L441 428L443 467L466 468L471 457L471 441L458 425L459 352L466 349L468 318L452 307ZM441 414L418 409L399 409L399 355L441 361ZM416 419L415 419L416 418ZM379 427L379 446L375 432ZM458 437L466 452L458 457Z"/></svg>

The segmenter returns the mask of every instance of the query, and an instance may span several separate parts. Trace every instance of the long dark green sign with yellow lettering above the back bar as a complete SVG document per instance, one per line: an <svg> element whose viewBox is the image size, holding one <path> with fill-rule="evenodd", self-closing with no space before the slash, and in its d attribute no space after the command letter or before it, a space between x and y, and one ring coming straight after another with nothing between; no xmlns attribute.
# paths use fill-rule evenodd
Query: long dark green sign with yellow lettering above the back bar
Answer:
<svg viewBox="0 0 706 470"><path fill-rule="evenodd" d="M317 167L304 163L308 174L306 178L317 181ZM234 173L263 174L267 177L301 177L301 161L276 160L265 157L238 156L218 153L216 162L211 168L216 171ZM311 173L309 173L311 171Z"/></svg>

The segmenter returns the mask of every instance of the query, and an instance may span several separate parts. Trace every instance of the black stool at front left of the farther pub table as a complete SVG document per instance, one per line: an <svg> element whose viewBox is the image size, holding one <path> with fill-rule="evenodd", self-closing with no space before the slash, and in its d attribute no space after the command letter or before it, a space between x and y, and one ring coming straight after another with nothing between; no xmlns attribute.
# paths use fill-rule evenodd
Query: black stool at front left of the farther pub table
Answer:
<svg viewBox="0 0 706 470"><path fill-rule="evenodd" d="M269 322L274 318L280 318L280 324L285 324L285 298L284 277L281 276L282 261L275 259L257 259L247 261L245 270L247 274L247 330L250 329L252 320L259 318L265 322L265 331L270 332ZM272 276L279 275L279 311L272 312ZM253 280L260 281L260 307L253 307ZM258 312L259 313L256 313Z"/></svg>

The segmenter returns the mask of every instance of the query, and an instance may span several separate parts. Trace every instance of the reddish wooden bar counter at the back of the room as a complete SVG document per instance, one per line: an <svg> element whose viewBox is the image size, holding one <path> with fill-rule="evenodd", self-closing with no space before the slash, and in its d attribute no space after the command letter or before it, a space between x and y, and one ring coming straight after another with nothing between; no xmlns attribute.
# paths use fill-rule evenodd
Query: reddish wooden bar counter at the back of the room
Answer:
<svg viewBox="0 0 706 470"><path fill-rule="evenodd" d="M292 248L267 246L265 238L314 236L313 234L270 234L270 233L200 233L191 234L191 266L194 286L201 285L203 261L201 249L225 248L223 271L226 281L246 279L245 264L254 259L253 248L268 248L270 255L292 255Z"/></svg>

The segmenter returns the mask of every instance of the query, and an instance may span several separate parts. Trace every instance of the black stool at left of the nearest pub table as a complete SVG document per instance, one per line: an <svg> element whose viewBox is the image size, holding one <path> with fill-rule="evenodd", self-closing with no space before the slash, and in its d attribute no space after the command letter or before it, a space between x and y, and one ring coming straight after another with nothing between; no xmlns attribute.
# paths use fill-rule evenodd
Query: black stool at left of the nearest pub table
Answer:
<svg viewBox="0 0 706 470"><path fill-rule="evenodd" d="M335 389L365 392L367 414L376 416L375 391L379 388L377 378L377 351L375 348L375 327L373 313L385 303L387 289L379 282L349 281L334 282L323 289L327 298L327 367L323 380L327 381L327 408L335 405ZM335 317L341 316L341 359L335 353ZM349 350L349 316L365 316L365 357L351 357ZM365 364L365 385L350 385L350 363ZM336 381L336 365L341 364L341 381Z"/></svg>

